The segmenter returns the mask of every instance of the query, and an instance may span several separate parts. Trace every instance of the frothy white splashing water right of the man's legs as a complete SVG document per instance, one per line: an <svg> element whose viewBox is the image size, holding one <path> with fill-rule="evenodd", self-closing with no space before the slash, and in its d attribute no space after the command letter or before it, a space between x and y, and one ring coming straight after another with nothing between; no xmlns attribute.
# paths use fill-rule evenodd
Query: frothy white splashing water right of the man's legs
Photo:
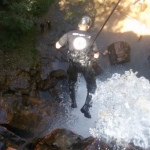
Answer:
<svg viewBox="0 0 150 150"><path fill-rule="evenodd" d="M99 115L89 132L94 137L126 146L131 141L142 148L150 147L150 82L138 78L137 72L113 74L98 81L93 107Z"/></svg>

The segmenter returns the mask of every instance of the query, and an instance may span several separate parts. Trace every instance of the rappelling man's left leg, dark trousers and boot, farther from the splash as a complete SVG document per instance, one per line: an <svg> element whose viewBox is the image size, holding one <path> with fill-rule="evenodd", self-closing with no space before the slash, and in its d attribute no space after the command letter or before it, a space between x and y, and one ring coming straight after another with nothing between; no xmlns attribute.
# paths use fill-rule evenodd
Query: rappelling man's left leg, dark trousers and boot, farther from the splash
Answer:
<svg viewBox="0 0 150 150"><path fill-rule="evenodd" d="M69 65L68 75L69 75L69 80L68 80L69 94L72 101L71 107L77 108L77 103L76 103L77 70L73 65Z"/></svg>

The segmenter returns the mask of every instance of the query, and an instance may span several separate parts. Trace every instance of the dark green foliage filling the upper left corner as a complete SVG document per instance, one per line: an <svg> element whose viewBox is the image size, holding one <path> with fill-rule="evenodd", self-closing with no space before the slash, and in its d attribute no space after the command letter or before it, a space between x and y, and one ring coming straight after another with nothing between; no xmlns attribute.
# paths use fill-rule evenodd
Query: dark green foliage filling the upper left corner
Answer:
<svg viewBox="0 0 150 150"><path fill-rule="evenodd" d="M6 64L37 62L36 20L54 0L2 0L0 2L0 49ZM11 58L11 56L13 56ZM15 57L14 57L15 56Z"/></svg>

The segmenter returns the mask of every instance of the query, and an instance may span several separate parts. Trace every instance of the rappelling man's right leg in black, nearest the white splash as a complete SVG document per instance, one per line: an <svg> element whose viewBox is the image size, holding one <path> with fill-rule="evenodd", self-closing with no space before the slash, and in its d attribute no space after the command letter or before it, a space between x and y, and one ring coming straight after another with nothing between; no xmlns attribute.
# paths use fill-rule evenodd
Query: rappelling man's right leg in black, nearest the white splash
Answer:
<svg viewBox="0 0 150 150"><path fill-rule="evenodd" d="M96 78L92 69L88 69L83 73L86 84L87 84L87 96L86 101L83 107L81 108L81 112L84 113L86 118L91 118L91 114L89 112L89 108L92 107L92 95L96 90Z"/></svg>

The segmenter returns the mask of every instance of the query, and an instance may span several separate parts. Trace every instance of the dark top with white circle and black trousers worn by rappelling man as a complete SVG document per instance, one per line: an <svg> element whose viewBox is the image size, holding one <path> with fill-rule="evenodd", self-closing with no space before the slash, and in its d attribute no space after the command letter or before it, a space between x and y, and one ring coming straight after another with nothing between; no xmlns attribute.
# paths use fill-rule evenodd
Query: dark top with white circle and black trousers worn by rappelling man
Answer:
<svg viewBox="0 0 150 150"><path fill-rule="evenodd" d="M82 73L86 85L87 85L87 98L85 105L91 107L92 94L96 90L96 77L91 63L91 54L93 52L98 52L97 46L94 43L91 47L93 40L91 34L87 31L73 30L64 34L60 40L59 44L64 46L69 45L68 58L69 58L69 90L70 97L72 99L72 108L76 108L76 98L75 98L75 83L77 81L78 73ZM82 110L81 110L82 111ZM86 115L84 113L84 115ZM87 116L86 116L87 117ZM88 117L90 118L90 116Z"/></svg>

